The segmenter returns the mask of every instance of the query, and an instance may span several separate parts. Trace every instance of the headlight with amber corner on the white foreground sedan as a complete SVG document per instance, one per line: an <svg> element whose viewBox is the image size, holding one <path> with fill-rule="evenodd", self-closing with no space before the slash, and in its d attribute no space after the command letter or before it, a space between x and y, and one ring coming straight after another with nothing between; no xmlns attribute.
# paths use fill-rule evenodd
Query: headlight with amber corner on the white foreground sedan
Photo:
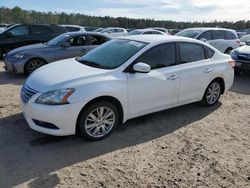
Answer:
<svg viewBox="0 0 250 188"><path fill-rule="evenodd" d="M69 104L68 98L75 91L73 88L48 91L36 99L36 103L48 105Z"/></svg>

